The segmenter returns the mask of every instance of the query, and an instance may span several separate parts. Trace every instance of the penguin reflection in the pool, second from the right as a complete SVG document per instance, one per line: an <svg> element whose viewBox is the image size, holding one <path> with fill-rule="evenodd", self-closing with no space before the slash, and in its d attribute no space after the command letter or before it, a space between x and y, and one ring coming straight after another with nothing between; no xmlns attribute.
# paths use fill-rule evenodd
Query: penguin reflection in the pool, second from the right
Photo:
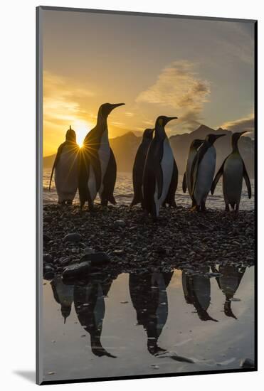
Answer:
<svg viewBox="0 0 264 391"><path fill-rule="evenodd" d="M204 268L204 273L209 268ZM187 304L193 304L201 321L214 321L207 310L211 300L211 282L208 277L203 275L188 275L185 272L181 274L182 289Z"/></svg>

